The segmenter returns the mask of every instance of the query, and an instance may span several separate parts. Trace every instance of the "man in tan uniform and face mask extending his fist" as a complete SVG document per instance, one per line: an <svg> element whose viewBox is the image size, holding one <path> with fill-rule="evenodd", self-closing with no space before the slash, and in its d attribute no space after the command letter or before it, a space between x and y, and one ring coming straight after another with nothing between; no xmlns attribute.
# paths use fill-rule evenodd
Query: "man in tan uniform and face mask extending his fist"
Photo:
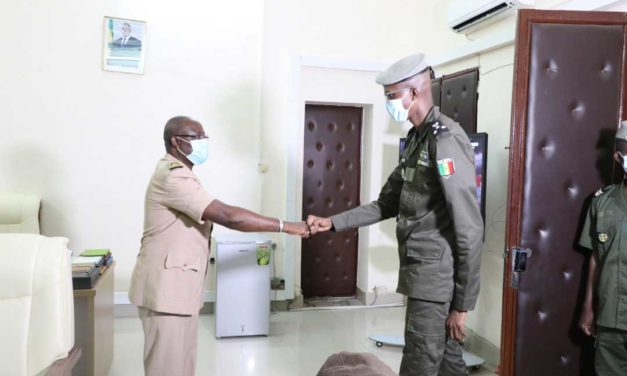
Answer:
<svg viewBox="0 0 627 376"><path fill-rule="evenodd" d="M194 375L212 222L302 237L309 231L303 222L264 217L207 193L192 172L207 159L208 138L199 122L172 118L163 136L167 153L146 190L144 234L129 299L144 329L146 375Z"/></svg>

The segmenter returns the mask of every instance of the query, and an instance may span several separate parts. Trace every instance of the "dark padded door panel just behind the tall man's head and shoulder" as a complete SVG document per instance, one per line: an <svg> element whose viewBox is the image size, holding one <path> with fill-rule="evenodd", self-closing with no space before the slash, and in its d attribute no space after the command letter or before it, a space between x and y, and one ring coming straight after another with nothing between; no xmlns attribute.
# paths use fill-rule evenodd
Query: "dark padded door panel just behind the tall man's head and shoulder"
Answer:
<svg viewBox="0 0 627 376"><path fill-rule="evenodd" d="M466 133L477 133L478 85L477 68L442 77L440 111L458 122Z"/></svg>

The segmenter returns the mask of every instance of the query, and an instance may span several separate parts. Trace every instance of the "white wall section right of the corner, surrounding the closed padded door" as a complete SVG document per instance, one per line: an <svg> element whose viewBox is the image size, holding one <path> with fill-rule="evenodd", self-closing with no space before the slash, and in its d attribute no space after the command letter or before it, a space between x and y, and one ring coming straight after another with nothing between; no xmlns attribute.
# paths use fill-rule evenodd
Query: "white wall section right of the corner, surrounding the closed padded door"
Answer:
<svg viewBox="0 0 627 376"><path fill-rule="evenodd" d="M266 1L262 69L262 159L273 166L264 178L263 208L276 215L300 218L300 181L303 106L307 101L365 104L372 109L372 129L365 138L369 160L362 165L362 202L377 197L392 169L397 137L389 132L388 121L379 117L377 87L367 83L375 67L384 67L415 51L432 57L472 47L496 35L513 35L515 17L497 22L468 36L454 34L446 26L447 1L376 1L298 3ZM576 4L571 4L576 3ZM607 2L597 1L597 6ZM594 4L538 0L538 8ZM339 32L338 32L339 31ZM304 57L301 59L301 57ZM313 59L311 57L314 57ZM495 346L500 345L503 284L503 247L507 196L507 162L513 78L513 46L505 46L437 67L438 74L468 67L481 69L479 131L489 133L488 199L486 241L482 253L482 293L469 327ZM310 64L312 61L317 63ZM326 64L329 63L329 64ZM316 69L307 65L329 65ZM339 66L339 67L338 67ZM351 69L353 67L353 69ZM371 67L372 69L369 69ZM357 70L365 70L365 72ZM346 89L345 85L350 85ZM351 93L351 89L354 90ZM371 90L375 90L371 92ZM369 95L372 94L372 97ZM366 119L368 120L368 119ZM368 124L368 121L365 122ZM295 131L292 127L299 130ZM277 145L276 140L286 140ZM373 141L376 140L376 141ZM296 149L296 150L294 150ZM389 152L386 153L386 150ZM393 150L393 151L390 151ZM285 156L288 156L286 159ZM296 189L294 189L296 187ZM270 188L270 189L267 189ZM276 194L282 189L285 195ZM375 286L393 291L397 282L398 259L390 221L362 229L358 287L371 291ZM282 272L299 283L300 247L293 239L280 240L278 258ZM284 251L284 252L283 252ZM367 266L364 265L367 261ZM292 267L294 270L289 270ZM298 292L296 292L298 293Z"/></svg>

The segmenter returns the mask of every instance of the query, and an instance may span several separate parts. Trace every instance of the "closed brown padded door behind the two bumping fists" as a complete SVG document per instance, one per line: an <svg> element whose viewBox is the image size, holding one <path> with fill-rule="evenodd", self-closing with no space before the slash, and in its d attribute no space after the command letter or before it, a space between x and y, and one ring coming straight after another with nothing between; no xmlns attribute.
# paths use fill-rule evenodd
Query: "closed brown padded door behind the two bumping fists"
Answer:
<svg viewBox="0 0 627 376"><path fill-rule="evenodd" d="M358 107L305 106L303 219L360 205L361 124ZM301 275L305 297L354 296L357 231L303 239Z"/></svg>

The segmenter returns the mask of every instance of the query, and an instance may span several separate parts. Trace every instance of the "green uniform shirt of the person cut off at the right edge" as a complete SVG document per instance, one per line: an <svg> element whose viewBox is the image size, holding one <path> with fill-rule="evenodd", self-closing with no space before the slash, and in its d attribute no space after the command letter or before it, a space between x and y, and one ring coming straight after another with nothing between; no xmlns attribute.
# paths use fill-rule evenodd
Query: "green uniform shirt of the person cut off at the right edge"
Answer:
<svg viewBox="0 0 627 376"><path fill-rule="evenodd" d="M592 199L579 244L597 261L597 325L627 330L627 192L623 184Z"/></svg>

